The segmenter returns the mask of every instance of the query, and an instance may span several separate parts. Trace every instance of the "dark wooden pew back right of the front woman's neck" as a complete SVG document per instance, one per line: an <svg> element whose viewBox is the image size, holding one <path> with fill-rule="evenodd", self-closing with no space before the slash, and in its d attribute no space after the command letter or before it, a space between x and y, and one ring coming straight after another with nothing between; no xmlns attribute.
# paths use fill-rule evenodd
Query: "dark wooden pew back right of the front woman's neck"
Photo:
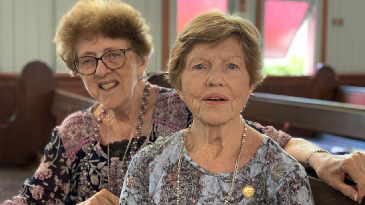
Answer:
<svg viewBox="0 0 365 205"><path fill-rule="evenodd" d="M365 106L310 98L253 93L243 116L267 123L365 140Z"/></svg>

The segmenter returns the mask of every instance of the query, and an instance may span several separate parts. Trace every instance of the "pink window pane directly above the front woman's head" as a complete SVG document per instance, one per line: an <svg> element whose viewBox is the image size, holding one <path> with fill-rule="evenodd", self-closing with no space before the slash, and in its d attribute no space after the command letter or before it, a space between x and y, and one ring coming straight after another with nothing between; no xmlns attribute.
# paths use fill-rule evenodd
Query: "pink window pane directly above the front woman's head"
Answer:
<svg viewBox="0 0 365 205"><path fill-rule="evenodd" d="M227 13L228 0L177 0L176 31L180 33L184 26L196 16L212 9Z"/></svg>

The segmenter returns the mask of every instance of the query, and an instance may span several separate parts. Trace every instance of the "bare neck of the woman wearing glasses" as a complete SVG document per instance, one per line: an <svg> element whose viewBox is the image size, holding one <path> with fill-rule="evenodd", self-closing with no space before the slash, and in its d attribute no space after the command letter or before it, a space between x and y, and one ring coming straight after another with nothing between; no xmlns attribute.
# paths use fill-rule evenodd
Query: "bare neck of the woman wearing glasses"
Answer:
<svg viewBox="0 0 365 205"><path fill-rule="evenodd" d="M122 106L109 109L111 111L110 120L116 120L123 123L135 122L135 119L139 114L139 107L141 106L143 89L145 86L145 81L138 81L132 90L131 97L128 98Z"/></svg>

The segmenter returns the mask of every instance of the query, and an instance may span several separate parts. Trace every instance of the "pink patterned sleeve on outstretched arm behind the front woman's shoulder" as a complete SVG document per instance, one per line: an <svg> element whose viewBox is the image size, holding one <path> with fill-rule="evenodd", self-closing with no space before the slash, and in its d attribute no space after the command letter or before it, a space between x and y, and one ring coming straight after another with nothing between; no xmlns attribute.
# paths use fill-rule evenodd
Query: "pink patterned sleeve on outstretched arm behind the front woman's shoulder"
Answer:
<svg viewBox="0 0 365 205"><path fill-rule="evenodd" d="M248 120L245 120L246 124L249 125L250 127L256 129L258 132L265 134L267 136L269 136L270 138L272 138L276 143L278 143L280 145L281 148L285 148L285 146L287 146L289 140L292 138L292 136L286 134L285 132L279 130L277 131L277 129L275 129L272 126L262 126L259 123L254 123Z"/></svg>

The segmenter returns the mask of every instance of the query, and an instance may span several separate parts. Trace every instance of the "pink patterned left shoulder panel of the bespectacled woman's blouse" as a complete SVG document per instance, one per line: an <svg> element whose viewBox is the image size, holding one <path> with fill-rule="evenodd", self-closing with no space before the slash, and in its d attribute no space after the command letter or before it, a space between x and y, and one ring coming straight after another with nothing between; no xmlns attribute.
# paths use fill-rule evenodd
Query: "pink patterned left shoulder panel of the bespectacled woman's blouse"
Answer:
<svg viewBox="0 0 365 205"><path fill-rule="evenodd" d="M65 155L69 156L71 161L83 146L99 136L96 134L95 128L96 121L91 113L91 108L72 113L55 128L57 136L64 146Z"/></svg>

